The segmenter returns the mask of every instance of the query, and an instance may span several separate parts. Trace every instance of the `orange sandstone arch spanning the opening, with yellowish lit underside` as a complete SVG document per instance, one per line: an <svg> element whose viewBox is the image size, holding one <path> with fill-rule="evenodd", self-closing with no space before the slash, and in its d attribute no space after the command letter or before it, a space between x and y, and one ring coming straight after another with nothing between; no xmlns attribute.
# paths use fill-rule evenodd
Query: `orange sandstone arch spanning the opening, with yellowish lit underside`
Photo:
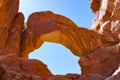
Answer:
<svg viewBox="0 0 120 80"><path fill-rule="evenodd" d="M98 33L79 28L68 18L50 11L36 12L29 16L20 56L27 57L29 52L40 47L44 41L63 44L77 56L102 45Z"/></svg>

